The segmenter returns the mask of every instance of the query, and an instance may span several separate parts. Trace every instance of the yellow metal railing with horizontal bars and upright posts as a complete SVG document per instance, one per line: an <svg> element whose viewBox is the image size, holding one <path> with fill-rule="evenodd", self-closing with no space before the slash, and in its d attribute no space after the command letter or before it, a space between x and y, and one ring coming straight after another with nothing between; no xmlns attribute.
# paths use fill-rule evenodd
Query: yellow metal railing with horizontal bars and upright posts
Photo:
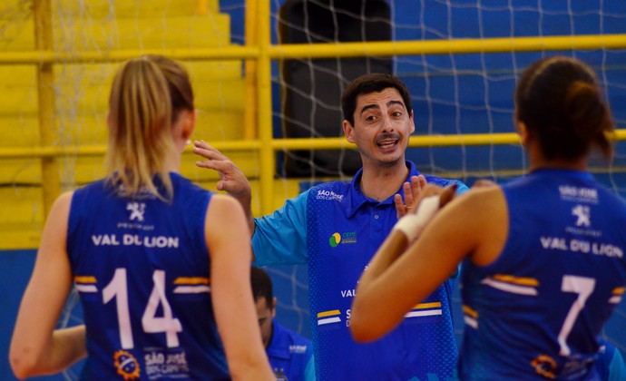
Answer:
<svg viewBox="0 0 626 381"><path fill-rule="evenodd" d="M282 44L270 42L270 5L266 1L248 0L247 17L250 41L245 46L228 46L207 49L163 49L122 50L112 52L54 52L49 38L50 0L34 1L36 50L33 52L0 53L0 64L36 64L39 79L39 112L42 135L41 147L28 149L0 149L0 160L15 158L41 158L43 165L44 205L47 214L52 200L59 192L59 179L55 167L57 157L72 154L77 156L103 155L106 147L97 146L54 146L54 92L52 91L52 65L104 63L124 61L140 54L165 54L186 61L229 60L246 61L246 75L256 81L247 81L247 96L254 96L252 113L245 118L244 140L215 142L220 151L258 151L260 160L260 205L261 212L271 211L273 202L273 177L276 151L301 149L354 148L343 138L278 139L272 137L271 115L271 67L273 60L294 58L355 57L364 55L392 56L416 54L477 54L504 52L560 51L583 49L626 48L626 34L578 35L554 37L459 39L446 41L406 41L344 44ZM256 17L256 19L252 18ZM254 111L256 110L256 120ZM256 128L254 125L256 124ZM613 136L626 140L626 131ZM414 136L409 146L454 146L516 144L514 133L459 134L445 136Z"/></svg>

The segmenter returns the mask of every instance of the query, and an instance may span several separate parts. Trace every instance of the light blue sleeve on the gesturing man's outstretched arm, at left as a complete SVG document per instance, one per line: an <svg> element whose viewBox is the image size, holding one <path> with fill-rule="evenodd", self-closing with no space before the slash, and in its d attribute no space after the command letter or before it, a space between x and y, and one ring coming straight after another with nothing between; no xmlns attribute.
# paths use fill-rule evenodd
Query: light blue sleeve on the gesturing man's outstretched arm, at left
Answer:
<svg viewBox="0 0 626 381"><path fill-rule="evenodd" d="M306 263L308 190L279 210L254 219L252 251L257 266Z"/></svg>

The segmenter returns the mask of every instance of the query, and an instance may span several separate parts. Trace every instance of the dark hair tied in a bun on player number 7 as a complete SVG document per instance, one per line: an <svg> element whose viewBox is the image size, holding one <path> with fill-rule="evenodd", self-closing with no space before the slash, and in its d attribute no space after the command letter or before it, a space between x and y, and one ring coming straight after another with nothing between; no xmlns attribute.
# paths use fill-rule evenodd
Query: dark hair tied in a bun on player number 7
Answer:
<svg viewBox="0 0 626 381"><path fill-rule="evenodd" d="M611 111L595 73L581 61L555 56L529 66L517 84L515 107L546 159L578 159L594 146L611 157L605 134L614 130Z"/></svg>

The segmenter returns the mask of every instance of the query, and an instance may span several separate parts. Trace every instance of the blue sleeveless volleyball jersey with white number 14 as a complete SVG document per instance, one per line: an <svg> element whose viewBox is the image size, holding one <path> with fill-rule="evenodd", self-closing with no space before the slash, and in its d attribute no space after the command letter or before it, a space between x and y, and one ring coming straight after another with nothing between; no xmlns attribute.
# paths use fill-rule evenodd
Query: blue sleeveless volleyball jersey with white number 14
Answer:
<svg viewBox="0 0 626 381"><path fill-rule="evenodd" d="M73 195L68 254L87 326L85 379L228 378L210 301L211 193L172 173L174 197Z"/></svg>

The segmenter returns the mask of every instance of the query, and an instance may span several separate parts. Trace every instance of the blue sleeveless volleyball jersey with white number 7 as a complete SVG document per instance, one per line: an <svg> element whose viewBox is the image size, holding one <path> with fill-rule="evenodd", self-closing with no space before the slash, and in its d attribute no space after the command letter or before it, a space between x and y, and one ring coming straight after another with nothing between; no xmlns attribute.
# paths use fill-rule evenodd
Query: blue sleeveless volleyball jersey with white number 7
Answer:
<svg viewBox="0 0 626 381"><path fill-rule="evenodd" d="M626 206L581 171L503 186L508 237L486 267L465 261L460 376L586 376L626 284Z"/></svg>

